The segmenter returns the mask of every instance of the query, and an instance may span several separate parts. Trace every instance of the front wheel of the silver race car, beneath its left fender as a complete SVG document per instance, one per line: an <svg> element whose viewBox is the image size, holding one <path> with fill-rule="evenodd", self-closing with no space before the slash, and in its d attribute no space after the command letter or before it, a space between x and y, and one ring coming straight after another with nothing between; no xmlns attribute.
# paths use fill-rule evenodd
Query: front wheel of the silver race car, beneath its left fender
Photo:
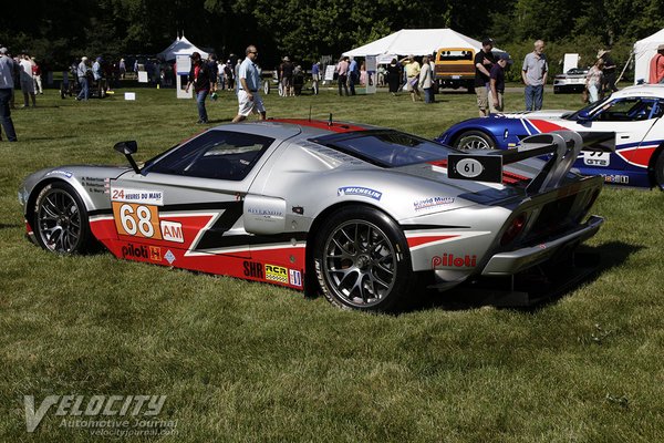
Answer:
<svg viewBox="0 0 664 443"><path fill-rule="evenodd" d="M64 255L92 250L87 209L66 183L53 182L40 190L31 222L34 237L45 250Z"/></svg>

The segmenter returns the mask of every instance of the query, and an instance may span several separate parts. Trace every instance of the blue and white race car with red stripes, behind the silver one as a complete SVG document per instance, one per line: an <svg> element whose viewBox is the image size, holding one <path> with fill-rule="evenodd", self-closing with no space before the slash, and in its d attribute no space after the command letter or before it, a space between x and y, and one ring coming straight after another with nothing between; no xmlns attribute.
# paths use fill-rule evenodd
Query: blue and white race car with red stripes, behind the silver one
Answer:
<svg viewBox="0 0 664 443"><path fill-rule="evenodd" d="M436 141L458 148L509 150L522 138L560 130L615 133L615 151L588 148L573 167L605 183L664 189L664 85L625 87L572 111L535 111L470 119Z"/></svg>

